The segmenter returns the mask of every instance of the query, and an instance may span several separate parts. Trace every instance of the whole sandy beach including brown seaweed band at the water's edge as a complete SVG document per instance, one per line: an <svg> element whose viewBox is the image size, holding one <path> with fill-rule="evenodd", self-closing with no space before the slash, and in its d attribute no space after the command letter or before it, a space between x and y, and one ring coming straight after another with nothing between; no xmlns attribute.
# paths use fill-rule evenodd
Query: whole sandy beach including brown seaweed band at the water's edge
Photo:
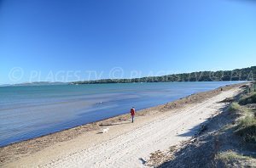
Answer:
<svg viewBox="0 0 256 168"><path fill-rule="evenodd" d="M147 167L151 153L189 140L242 84L0 148L1 167ZM102 133L103 128L109 128Z"/></svg>

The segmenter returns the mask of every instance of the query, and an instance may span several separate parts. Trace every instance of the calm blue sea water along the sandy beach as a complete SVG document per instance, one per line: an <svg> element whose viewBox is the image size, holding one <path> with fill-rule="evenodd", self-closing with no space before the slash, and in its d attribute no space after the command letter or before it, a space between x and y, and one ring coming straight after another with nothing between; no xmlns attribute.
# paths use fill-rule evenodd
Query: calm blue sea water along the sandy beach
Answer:
<svg viewBox="0 0 256 168"><path fill-rule="evenodd" d="M237 82L0 87L0 146Z"/></svg>

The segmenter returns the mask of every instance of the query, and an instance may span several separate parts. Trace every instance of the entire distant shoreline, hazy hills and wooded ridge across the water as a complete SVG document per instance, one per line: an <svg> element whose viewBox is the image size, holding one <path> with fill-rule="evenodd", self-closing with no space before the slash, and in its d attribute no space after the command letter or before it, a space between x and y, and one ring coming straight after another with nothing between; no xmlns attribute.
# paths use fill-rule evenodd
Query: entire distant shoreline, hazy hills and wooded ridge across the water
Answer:
<svg viewBox="0 0 256 168"><path fill-rule="evenodd" d="M108 84L108 83L141 83L141 82L192 82L192 81L255 81L256 66L236 70L195 71L190 73L172 74L166 76L144 76L124 79L100 79L88 81L32 81L17 84L1 84L9 86L44 86L44 85L76 85L76 84Z"/></svg>

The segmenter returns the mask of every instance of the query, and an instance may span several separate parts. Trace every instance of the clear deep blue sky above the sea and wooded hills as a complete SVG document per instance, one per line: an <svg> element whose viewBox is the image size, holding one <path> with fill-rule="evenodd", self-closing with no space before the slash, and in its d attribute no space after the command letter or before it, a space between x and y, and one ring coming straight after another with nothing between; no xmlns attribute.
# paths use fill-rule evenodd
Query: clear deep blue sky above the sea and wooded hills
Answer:
<svg viewBox="0 0 256 168"><path fill-rule="evenodd" d="M0 0L0 84L256 65L250 0Z"/></svg>

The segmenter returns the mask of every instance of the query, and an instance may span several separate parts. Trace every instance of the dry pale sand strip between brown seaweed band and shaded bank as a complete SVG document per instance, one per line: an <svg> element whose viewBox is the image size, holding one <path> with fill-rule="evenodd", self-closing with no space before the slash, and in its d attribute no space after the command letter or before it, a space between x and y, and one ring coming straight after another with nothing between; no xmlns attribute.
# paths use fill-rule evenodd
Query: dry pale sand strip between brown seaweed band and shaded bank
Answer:
<svg viewBox="0 0 256 168"><path fill-rule="evenodd" d="M135 123L115 120L111 126L105 126L109 127L108 133L84 132L3 166L145 167L143 162L148 160L150 153L165 151L193 137L201 123L224 108L225 103L219 102L235 96L240 90L239 86L232 87L200 103L139 116Z"/></svg>

